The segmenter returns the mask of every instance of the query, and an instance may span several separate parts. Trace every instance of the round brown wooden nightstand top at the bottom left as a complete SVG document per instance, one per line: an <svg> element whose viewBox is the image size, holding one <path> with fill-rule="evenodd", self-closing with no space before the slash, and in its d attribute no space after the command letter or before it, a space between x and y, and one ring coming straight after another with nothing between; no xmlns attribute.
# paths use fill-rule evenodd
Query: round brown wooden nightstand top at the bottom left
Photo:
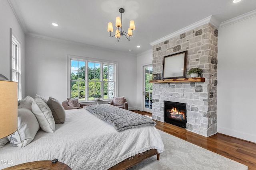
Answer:
<svg viewBox="0 0 256 170"><path fill-rule="evenodd" d="M3 170L72 170L68 165L62 162L52 163L51 160L40 160L35 162L27 162L5 168Z"/></svg>

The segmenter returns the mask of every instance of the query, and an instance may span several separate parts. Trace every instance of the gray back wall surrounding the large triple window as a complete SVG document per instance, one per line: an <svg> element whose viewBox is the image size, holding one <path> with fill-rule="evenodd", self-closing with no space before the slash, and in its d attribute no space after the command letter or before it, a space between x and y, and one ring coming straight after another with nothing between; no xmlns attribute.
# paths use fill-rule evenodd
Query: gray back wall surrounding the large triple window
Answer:
<svg viewBox="0 0 256 170"><path fill-rule="evenodd" d="M136 56L90 45L26 36L26 95L68 97L68 55L118 62L118 96L136 109Z"/></svg>

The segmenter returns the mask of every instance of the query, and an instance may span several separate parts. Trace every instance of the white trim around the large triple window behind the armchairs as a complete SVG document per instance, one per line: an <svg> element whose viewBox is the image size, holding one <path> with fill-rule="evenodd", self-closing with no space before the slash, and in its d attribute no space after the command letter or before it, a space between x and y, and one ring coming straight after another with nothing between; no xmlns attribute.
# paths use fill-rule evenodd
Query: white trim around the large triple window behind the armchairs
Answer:
<svg viewBox="0 0 256 170"><path fill-rule="evenodd" d="M86 65L88 65L88 62L93 62L93 63L100 63L100 66L103 67L102 63L104 64L115 64L114 67L114 79L116 80L115 82L115 90L114 90L114 96L118 96L118 62L116 61L108 61L108 60L102 60L102 59L94 59L94 58L88 58L88 57L81 57L81 56L75 56L75 55L68 55L68 98L70 98L70 77L71 77L71 60L81 60L85 61ZM100 69L100 75L103 75L103 69ZM86 82L88 84L88 74L85 74ZM102 79L102 76L100 77L100 80ZM101 80L103 82L103 80ZM103 83L101 84L101 89L103 90ZM88 85L86 85L86 93L85 93L85 98L87 100L88 98ZM92 101L80 101L80 102L92 102ZM110 101L112 99L104 99L106 101Z"/></svg>

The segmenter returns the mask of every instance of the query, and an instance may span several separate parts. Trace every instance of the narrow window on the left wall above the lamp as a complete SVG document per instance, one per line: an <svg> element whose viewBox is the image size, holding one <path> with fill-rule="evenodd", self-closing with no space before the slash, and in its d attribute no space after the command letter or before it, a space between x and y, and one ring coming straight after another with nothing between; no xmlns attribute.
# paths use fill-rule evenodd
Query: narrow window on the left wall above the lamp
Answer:
<svg viewBox="0 0 256 170"><path fill-rule="evenodd" d="M18 100L21 100L20 43L12 35L12 81L18 82Z"/></svg>

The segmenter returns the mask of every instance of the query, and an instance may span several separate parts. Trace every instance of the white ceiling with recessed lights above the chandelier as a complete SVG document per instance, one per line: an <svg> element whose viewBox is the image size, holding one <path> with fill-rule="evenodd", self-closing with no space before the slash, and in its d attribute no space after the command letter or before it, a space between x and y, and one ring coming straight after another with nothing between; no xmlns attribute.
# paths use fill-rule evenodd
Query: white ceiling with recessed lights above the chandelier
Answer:
<svg viewBox="0 0 256 170"><path fill-rule="evenodd" d="M8 0L26 34L89 44L125 53L152 49L151 42L209 16L219 23L256 9L256 0ZM117 42L107 31L124 8L122 26L136 29ZM52 26L52 22L59 24ZM115 30L115 27L114 27ZM140 45L140 48L136 46ZM129 51L130 50L130 51Z"/></svg>

